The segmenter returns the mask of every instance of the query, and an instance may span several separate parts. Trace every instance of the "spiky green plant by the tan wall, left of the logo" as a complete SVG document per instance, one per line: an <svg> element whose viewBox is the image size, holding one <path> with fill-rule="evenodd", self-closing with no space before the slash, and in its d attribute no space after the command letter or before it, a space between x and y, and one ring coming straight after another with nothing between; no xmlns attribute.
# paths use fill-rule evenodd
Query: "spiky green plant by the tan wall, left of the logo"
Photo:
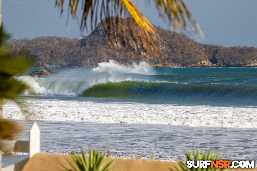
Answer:
<svg viewBox="0 0 257 171"><path fill-rule="evenodd" d="M106 152L102 151L100 154L99 150L89 148L89 157L87 159L85 152L81 149L82 157L79 154L72 154L72 159L75 165L72 164L68 159L66 159L71 166L62 166L64 171L108 171L115 163L115 161L109 161L109 156L104 159ZM115 169L117 170L117 169Z"/></svg>

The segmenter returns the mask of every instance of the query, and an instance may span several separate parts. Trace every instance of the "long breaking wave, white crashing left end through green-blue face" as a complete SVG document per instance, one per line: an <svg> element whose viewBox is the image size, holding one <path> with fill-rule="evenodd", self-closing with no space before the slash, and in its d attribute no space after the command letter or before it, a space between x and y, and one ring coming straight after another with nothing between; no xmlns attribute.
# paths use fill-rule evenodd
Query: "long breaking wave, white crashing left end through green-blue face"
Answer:
<svg viewBox="0 0 257 171"><path fill-rule="evenodd" d="M36 80L29 76L18 78L30 86L25 94L84 96L105 98L226 98L257 100L257 87L230 84L189 84L151 82L133 78L112 77L80 80ZM111 81L110 81L111 80Z"/></svg>

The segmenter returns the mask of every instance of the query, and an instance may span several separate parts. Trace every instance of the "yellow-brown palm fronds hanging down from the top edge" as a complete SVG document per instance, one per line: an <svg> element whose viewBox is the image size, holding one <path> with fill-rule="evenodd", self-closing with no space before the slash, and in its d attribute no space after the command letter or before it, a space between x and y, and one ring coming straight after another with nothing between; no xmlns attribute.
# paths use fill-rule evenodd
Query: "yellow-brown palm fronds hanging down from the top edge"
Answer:
<svg viewBox="0 0 257 171"><path fill-rule="evenodd" d="M159 15L169 22L171 28L185 31L188 21L195 34L203 37L200 26L182 0L152 1L158 9ZM65 0L56 0L56 6L61 8L61 14L63 13L64 2ZM132 43L134 50L146 56L148 60L150 55L153 54L164 60L159 48L154 44L154 40L159 38L157 30L136 8L134 0L81 0L81 2L83 11L80 30L82 34L85 29L88 30L88 18L90 18L91 30L96 27L97 19L100 19L103 30L108 37L109 45L120 48ZM78 4L79 0L69 0L68 14L70 13L73 17L77 17ZM99 18L98 15L100 15ZM133 18L134 23L122 17ZM104 22L105 24L103 24Z"/></svg>

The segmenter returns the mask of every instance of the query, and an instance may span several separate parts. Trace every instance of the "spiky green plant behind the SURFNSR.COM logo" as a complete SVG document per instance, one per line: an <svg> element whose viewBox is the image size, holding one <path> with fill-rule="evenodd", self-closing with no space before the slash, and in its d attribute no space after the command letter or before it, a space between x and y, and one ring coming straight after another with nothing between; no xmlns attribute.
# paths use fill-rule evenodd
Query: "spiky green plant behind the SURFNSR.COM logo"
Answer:
<svg viewBox="0 0 257 171"><path fill-rule="evenodd" d="M193 153L194 153L194 156L192 156L191 154L191 151L185 151L185 154L186 154L186 161L188 160L194 160L195 162L197 160L221 160L223 159L224 155L220 156L220 152L216 151L216 150L212 150L212 149L209 149L209 151L207 152L207 150L205 150L204 148L202 149L202 154L200 153L200 150L199 148L197 149L193 149ZM178 162L180 167L182 168L179 168L177 166L175 166L175 168L178 170L178 171L216 171L216 170L223 170L224 168L222 169L219 169L219 168L210 168L210 166L208 166L207 168L194 168L194 167L191 167L191 168L188 168L187 167L187 164L186 163L183 163L181 160ZM170 169L171 171L175 171L173 169Z"/></svg>

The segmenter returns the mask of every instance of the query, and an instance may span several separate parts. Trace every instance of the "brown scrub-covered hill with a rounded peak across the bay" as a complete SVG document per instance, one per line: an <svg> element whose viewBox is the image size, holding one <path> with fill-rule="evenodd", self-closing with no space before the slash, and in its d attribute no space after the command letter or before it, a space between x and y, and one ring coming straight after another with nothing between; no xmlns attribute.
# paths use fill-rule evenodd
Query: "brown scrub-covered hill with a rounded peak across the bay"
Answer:
<svg viewBox="0 0 257 171"><path fill-rule="evenodd" d="M124 20L132 19L125 18ZM104 22L103 26L105 27ZM36 67L94 67L99 62L116 60L124 65L145 60L133 48L133 43L114 50L109 48L102 24L80 40L67 37L36 37L12 39L14 52L25 50L33 55ZM160 39L154 40L167 63L152 56L155 67L247 67L257 66L257 48L248 46L224 47L195 42L184 34L156 27ZM113 34L113 33L112 33ZM129 38L131 39L131 37ZM117 38L116 38L117 40ZM222 43L222 42L221 42Z"/></svg>

